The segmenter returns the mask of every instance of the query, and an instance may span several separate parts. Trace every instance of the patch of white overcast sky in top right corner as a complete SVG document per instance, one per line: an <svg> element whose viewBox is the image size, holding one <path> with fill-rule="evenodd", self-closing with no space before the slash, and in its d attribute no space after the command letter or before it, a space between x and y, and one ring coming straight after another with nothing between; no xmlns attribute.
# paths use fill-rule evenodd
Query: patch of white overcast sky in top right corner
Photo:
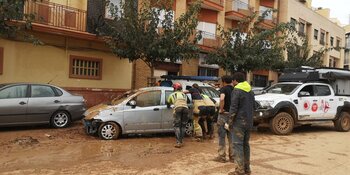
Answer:
<svg viewBox="0 0 350 175"><path fill-rule="evenodd" d="M331 9L331 18L338 18L342 24L349 24L350 0L312 0L313 7Z"/></svg>

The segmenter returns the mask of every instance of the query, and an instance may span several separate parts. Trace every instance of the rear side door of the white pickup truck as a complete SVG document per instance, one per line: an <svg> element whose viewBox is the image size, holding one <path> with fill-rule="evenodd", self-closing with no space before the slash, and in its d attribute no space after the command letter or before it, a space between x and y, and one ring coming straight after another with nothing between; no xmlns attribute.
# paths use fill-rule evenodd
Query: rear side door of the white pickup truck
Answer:
<svg viewBox="0 0 350 175"><path fill-rule="evenodd" d="M320 97L319 110L322 113L321 119L333 119L337 113L337 103L331 89L326 85L316 85L315 87L315 93Z"/></svg>

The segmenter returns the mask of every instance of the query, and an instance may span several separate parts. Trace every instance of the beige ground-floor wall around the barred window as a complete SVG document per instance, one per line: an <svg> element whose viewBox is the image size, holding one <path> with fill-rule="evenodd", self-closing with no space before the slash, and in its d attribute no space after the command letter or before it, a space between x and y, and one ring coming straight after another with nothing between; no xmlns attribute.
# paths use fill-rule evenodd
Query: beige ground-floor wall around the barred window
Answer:
<svg viewBox="0 0 350 175"><path fill-rule="evenodd" d="M57 38L57 41L59 40L60 38ZM69 43L69 40L66 42ZM73 47L69 44L66 47L71 49L48 45L33 46L30 43L3 39L0 40L0 47L4 48L4 71L0 75L0 83L47 83L52 80L52 84L61 87L131 88L132 64L108 52ZM70 55L102 59L102 80L69 78Z"/></svg>

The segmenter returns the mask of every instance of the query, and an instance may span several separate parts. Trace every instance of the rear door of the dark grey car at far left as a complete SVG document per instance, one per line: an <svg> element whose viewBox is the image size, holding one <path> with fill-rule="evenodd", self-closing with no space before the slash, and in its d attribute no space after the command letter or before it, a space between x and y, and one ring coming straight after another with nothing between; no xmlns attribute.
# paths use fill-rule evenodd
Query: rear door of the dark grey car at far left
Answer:
<svg viewBox="0 0 350 175"><path fill-rule="evenodd" d="M49 122L51 115L60 106L60 97L56 96L54 89L48 85L33 84L30 86L30 92L27 110L29 122Z"/></svg>

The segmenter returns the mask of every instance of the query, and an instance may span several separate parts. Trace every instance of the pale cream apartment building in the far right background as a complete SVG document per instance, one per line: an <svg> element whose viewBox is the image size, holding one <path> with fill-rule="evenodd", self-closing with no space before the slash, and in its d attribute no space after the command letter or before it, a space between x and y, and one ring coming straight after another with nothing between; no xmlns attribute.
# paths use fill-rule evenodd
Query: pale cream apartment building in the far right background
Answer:
<svg viewBox="0 0 350 175"><path fill-rule="evenodd" d="M311 0L280 1L279 22L294 22L300 34L308 37L314 52L334 48L323 57L323 66L343 68L345 31L329 18L329 9L311 7Z"/></svg>

